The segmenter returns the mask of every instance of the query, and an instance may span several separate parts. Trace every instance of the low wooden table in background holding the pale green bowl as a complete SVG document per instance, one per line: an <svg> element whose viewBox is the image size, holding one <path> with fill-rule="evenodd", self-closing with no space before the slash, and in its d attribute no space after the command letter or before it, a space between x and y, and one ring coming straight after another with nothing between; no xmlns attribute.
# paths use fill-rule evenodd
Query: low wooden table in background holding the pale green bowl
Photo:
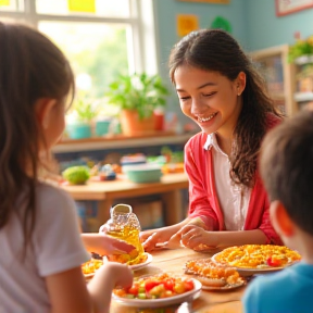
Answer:
<svg viewBox="0 0 313 313"><path fill-rule="evenodd" d="M165 206L165 224L172 225L184 218L180 189L188 188L188 177L185 173L166 174L161 177L160 183L149 184L136 184L117 177L111 181L88 181L86 185L62 188L74 200L99 201L97 227L108 221L114 200L160 193Z"/></svg>

